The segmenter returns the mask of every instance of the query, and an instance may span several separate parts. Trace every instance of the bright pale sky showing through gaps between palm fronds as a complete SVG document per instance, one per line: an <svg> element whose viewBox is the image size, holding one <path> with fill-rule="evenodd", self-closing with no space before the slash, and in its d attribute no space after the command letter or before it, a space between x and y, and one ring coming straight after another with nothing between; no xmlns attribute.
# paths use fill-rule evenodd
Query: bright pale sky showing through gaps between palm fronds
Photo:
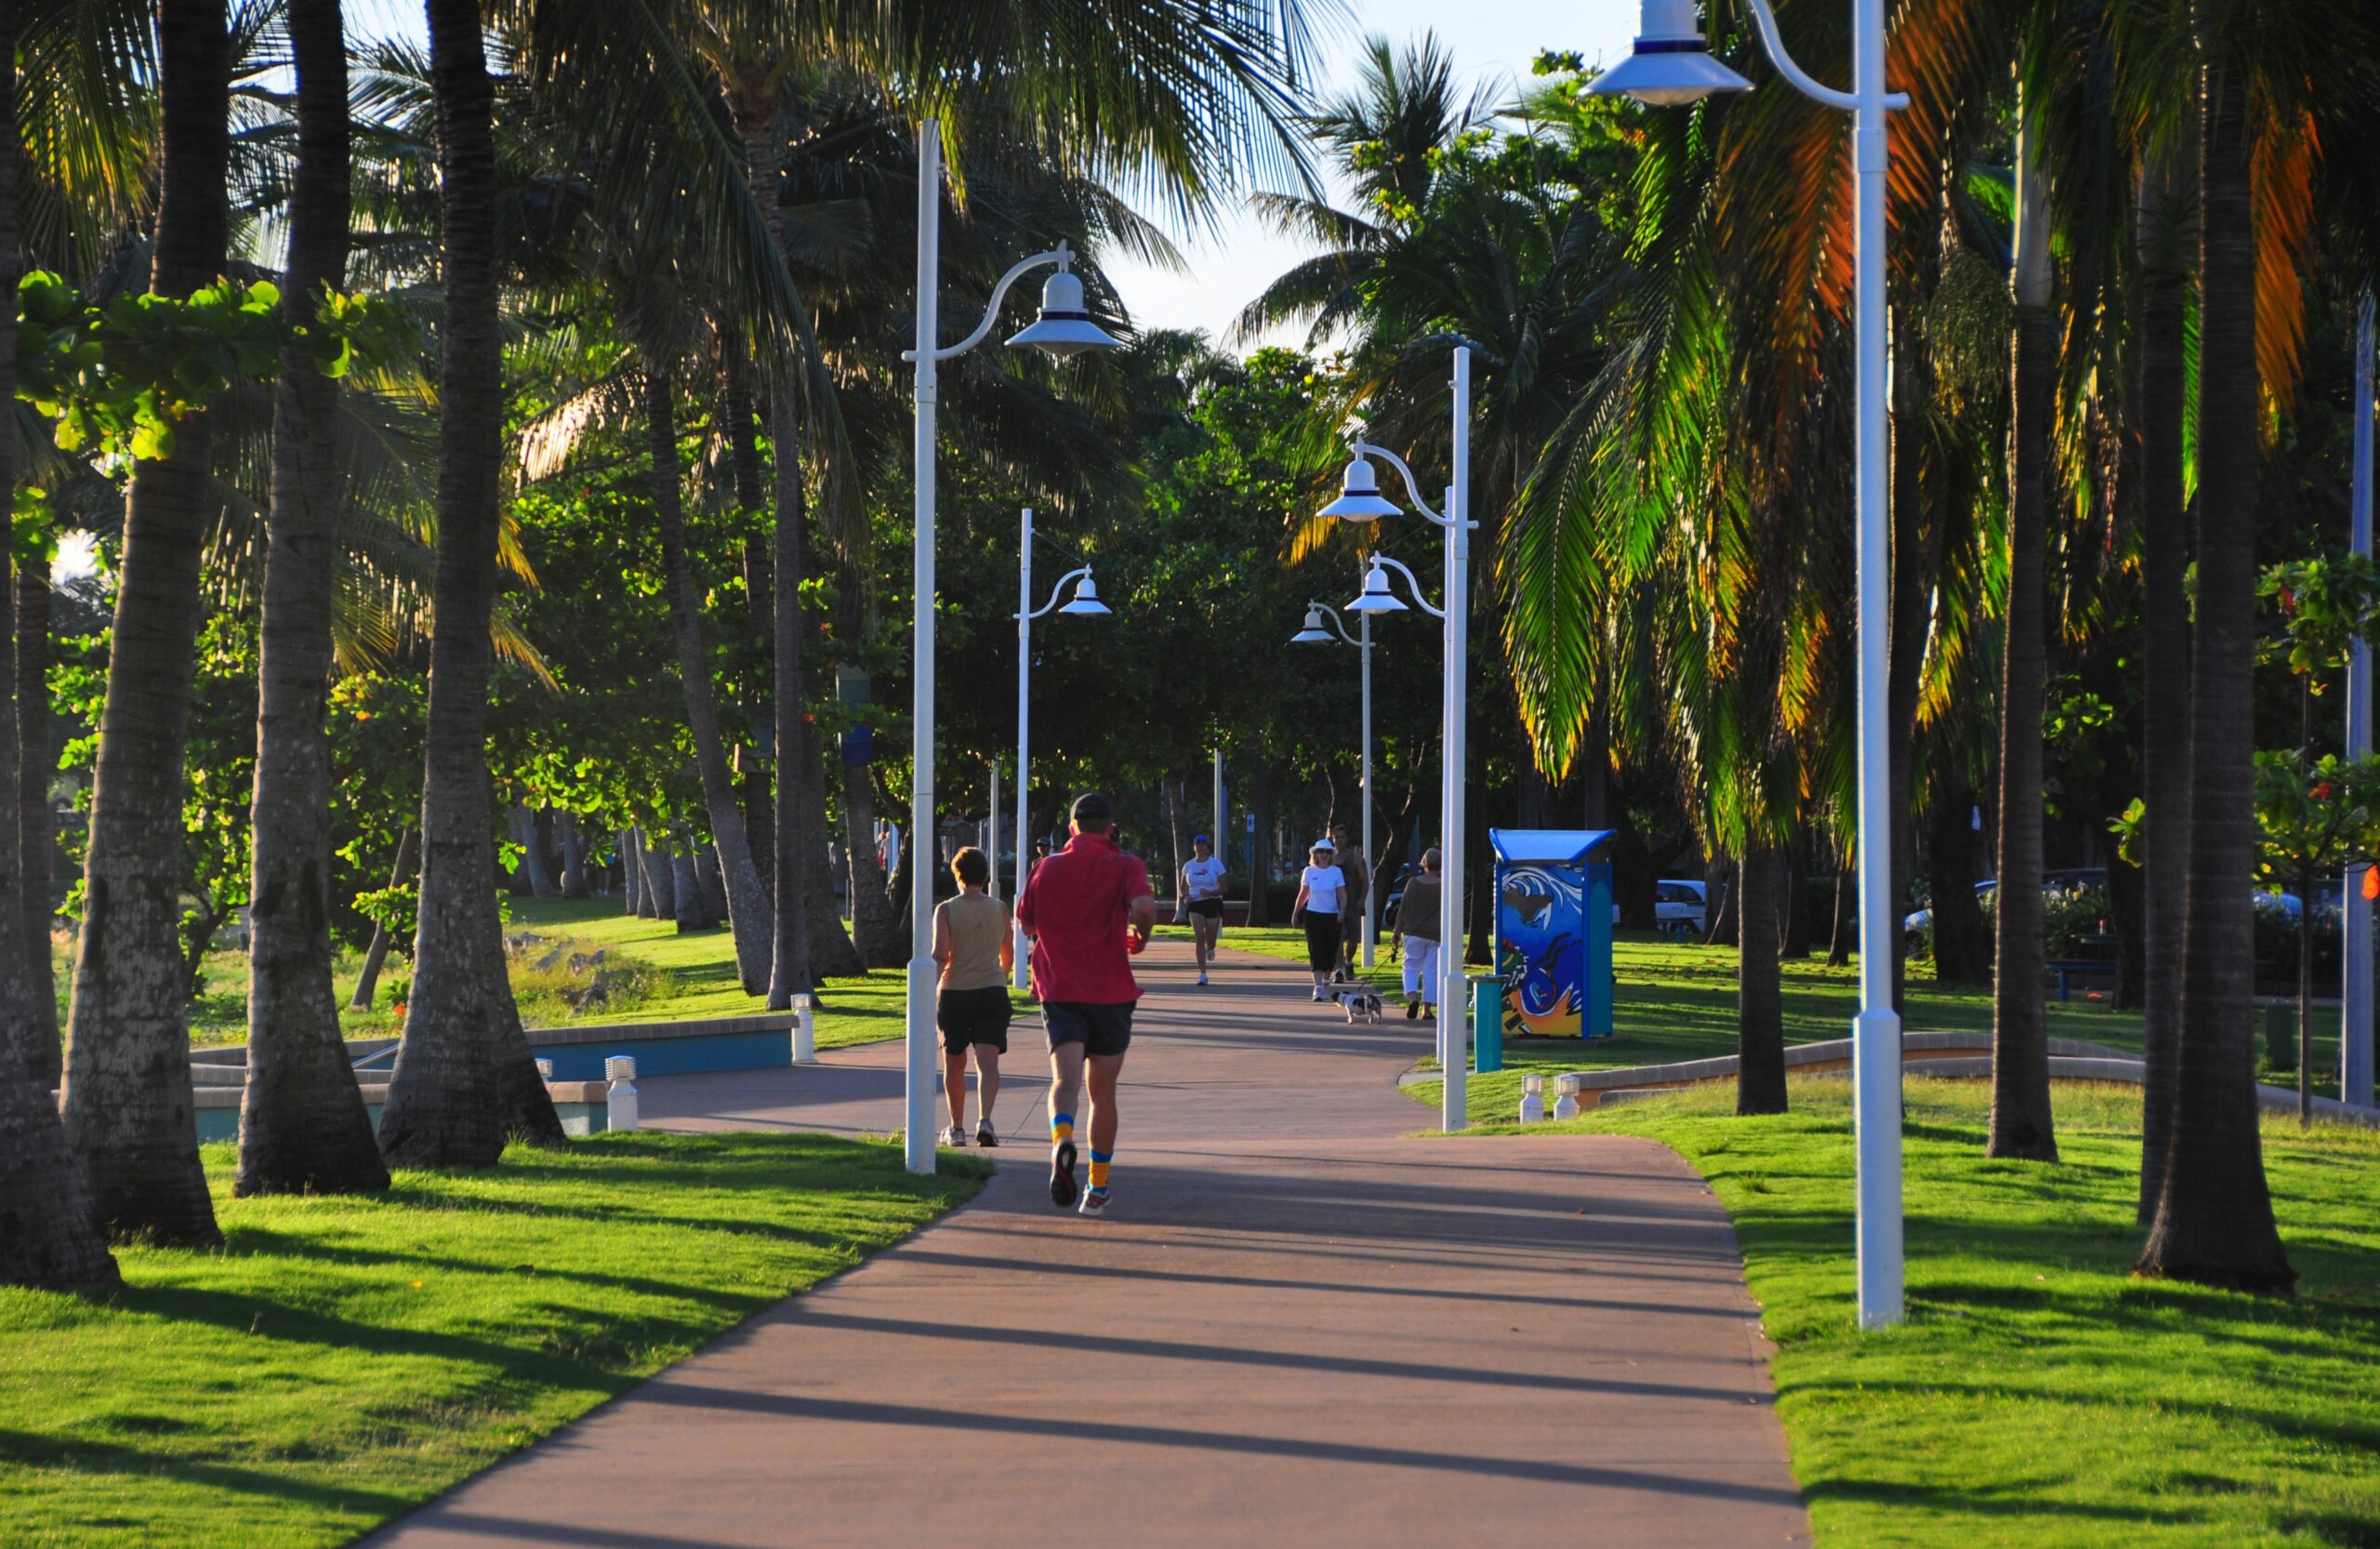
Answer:
<svg viewBox="0 0 2380 1549"><path fill-rule="evenodd" d="M1635 36L1637 0L1345 0L1347 17L1321 38L1321 83L1330 98L1354 86L1361 40L1388 36L1399 48L1428 29L1454 55L1464 83L1488 83L1490 98L1528 81L1542 48L1576 48L1587 62L1616 64ZM347 0L350 26L367 33L426 38L419 0ZM1188 274L1116 262L1109 274L1142 328L1204 328L1223 338L1233 316L1302 250L1245 209L1223 209L1211 233L1169 231Z"/></svg>

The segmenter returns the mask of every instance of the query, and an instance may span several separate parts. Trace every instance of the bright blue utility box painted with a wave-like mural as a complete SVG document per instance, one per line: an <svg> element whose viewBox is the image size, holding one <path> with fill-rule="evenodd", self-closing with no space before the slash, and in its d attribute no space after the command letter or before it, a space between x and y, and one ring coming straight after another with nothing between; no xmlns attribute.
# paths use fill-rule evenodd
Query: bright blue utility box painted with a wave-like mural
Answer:
<svg viewBox="0 0 2380 1549"><path fill-rule="evenodd" d="M1490 828L1507 1037L1611 1037L1614 828Z"/></svg>

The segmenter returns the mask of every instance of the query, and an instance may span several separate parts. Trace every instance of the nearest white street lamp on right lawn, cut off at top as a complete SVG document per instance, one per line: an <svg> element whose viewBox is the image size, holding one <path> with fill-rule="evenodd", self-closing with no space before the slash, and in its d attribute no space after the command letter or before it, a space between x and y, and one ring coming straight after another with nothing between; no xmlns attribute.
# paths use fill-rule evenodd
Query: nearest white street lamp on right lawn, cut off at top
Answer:
<svg viewBox="0 0 2380 1549"><path fill-rule="evenodd" d="M1859 1016L1852 1106L1859 1140L1859 1323L1902 1321L1902 1018L1892 1009L1892 802L1885 740L1885 0L1852 0L1852 90L1811 81L1778 38L1768 0L1749 0L1761 48L1802 95L1852 114L1859 345ZM1599 95L1683 105L1752 86L1714 59L1692 0L1645 0L1635 52L1595 81Z"/></svg>

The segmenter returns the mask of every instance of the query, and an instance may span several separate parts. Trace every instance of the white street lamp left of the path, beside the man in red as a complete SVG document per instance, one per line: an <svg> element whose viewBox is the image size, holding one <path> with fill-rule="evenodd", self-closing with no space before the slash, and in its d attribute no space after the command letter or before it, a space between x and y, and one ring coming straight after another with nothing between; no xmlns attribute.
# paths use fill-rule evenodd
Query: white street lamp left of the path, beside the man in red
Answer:
<svg viewBox="0 0 2380 1549"><path fill-rule="evenodd" d="M902 350L902 359L916 366L916 602L912 609L912 669L914 678L909 726L909 833L916 840L933 833L933 412L940 402L940 362L966 355L1000 321L1000 302L1009 286L1042 264L1057 264L1057 274L1042 286L1042 312L1009 345L1031 345L1057 359L1083 350L1114 350L1107 335L1083 309L1083 281L1069 264L1073 252L1059 243L1050 252L1021 259L1000 283L983 309L983 321L957 345L942 345L942 124L926 119L916 128L916 347ZM912 852L914 854L914 852ZM916 859L909 861L909 1102L902 1135L902 1161L912 1173L933 1173L933 876Z"/></svg>

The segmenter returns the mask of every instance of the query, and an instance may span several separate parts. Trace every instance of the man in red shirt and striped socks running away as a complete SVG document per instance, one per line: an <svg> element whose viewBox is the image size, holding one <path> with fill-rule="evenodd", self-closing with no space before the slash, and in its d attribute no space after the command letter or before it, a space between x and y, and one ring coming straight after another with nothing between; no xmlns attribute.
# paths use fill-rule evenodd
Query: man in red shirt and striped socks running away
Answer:
<svg viewBox="0 0 2380 1549"><path fill-rule="evenodd" d="M1116 811L1097 790L1076 797L1073 840L1033 868L1016 923L1033 942L1033 997L1050 1035L1050 1204L1076 1202L1073 1099L1088 1068L1090 1187L1081 1197L1083 1214L1097 1216L1116 1154L1116 1075L1140 999L1130 954L1157 926L1150 868L1116 847Z"/></svg>

